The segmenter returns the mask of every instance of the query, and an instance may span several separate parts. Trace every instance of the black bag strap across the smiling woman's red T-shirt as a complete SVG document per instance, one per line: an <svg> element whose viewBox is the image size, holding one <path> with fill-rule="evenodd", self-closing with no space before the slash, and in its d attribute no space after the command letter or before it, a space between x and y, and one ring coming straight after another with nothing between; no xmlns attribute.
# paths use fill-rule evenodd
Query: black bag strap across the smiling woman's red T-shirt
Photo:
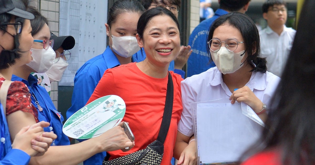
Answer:
<svg viewBox="0 0 315 165"><path fill-rule="evenodd" d="M161 128L157 136L157 140L164 144L167 132L169 132L169 124L173 112L174 86L171 73L169 72L169 80L167 82L167 91L165 99L164 113L161 123Z"/></svg>

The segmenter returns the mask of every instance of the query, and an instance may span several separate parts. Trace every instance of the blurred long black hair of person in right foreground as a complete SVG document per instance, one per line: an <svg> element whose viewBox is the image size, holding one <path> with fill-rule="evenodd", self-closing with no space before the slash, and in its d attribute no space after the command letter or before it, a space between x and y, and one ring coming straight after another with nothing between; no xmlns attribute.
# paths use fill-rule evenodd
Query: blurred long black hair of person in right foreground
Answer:
<svg viewBox="0 0 315 165"><path fill-rule="evenodd" d="M295 39L271 99L266 126L253 151L278 148L282 163L315 163L315 1L305 0ZM258 145L260 144L260 145Z"/></svg>

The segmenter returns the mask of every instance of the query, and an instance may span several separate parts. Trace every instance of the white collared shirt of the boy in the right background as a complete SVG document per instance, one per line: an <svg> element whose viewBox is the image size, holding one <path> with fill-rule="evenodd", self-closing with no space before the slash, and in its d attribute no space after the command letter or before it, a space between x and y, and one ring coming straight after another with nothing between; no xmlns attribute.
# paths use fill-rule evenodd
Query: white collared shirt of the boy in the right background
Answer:
<svg viewBox="0 0 315 165"><path fill-rule="evenodd" d="M267 58L267 69L277 76L281 76L285 63L291 51L292 43L295 36L295 30L284 29L280 36L269 26L259 31L261 55Z"/></svg>

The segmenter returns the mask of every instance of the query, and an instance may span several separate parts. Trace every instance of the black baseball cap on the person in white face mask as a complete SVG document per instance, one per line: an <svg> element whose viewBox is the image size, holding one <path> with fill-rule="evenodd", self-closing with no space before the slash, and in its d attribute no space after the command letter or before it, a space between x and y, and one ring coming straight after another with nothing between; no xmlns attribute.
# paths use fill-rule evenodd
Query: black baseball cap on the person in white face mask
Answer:
<svg viewBox="0 0 315 165"><path fill-rule="evenodd" d="M50 32L50 40L54 40L53 49L56 51L59 47L62 46L64 50L70 50L74 47L76 41L72 36L56 36L54 33Z"/></svg>

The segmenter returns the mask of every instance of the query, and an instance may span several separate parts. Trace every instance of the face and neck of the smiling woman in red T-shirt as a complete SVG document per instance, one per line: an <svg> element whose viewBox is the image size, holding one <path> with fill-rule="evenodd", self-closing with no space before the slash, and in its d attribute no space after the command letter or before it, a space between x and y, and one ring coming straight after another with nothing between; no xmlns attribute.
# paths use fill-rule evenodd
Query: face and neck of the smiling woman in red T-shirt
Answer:
<svg viewBox="0 0 315 165"><path fill-rule="evenodd" d="M137 63L137 66L147 75L163 78L167 75L169 63L174 60L180 50L179 25L176 18L162 14L145 23L138 24L136 37L139 46L146 52L146 59Z"/></svg>

